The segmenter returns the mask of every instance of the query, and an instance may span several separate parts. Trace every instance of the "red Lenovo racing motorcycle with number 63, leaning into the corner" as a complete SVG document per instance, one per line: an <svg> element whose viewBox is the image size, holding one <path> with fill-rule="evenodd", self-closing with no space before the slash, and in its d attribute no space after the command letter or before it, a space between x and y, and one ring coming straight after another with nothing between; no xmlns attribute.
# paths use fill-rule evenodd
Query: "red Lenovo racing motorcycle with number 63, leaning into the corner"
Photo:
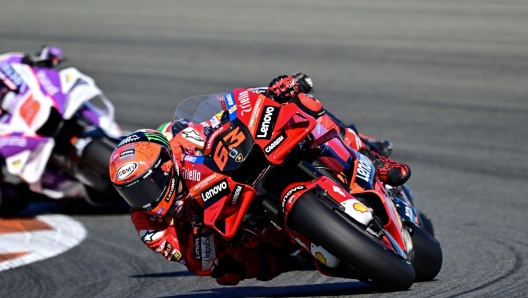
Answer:
<svg viewBox="0 0 528 298"><path fill-rule="evenodd" d="M266 243L324 275L388 290L438 274L440 244L409 193L383 185L335 130L245 89L189 98L175 118L201 123L222 104L221 122L200 140L204 152L181 157L205 226L233 244Z"/></svg>

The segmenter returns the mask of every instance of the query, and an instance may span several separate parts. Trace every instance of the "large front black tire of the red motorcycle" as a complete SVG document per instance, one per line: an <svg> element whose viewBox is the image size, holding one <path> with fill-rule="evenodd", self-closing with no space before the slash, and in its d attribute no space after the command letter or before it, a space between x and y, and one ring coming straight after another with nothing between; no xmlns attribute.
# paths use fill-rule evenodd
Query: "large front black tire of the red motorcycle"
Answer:
<svg viewBox="0 0 528 298"><path fill-rule="evenodd" d="M328 251L371 279L393 291L408 289L414 269L365 232L322 203L314 194L302 195L289 213L289 221Z"/></svg>

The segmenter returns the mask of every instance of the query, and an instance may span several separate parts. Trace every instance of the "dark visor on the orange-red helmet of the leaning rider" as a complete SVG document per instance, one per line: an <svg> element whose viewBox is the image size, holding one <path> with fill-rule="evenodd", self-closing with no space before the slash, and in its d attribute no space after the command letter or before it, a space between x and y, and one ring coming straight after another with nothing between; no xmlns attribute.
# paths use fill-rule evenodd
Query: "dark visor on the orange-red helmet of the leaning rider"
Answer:
<svg viewBox="0 0 528 298"><path fill-rule="evenodd" d="M167 188L171 187L174 191L177 182L174 177L174 169L169 172L162 170L162 165L169 160L169 154L162 149L159 161L142 177L130 184L116 186L119 194L132 208L143 211L151 210L164 198L163 194L167 191ZM171 178L174 178L174 183L170 181Z"/></svg>

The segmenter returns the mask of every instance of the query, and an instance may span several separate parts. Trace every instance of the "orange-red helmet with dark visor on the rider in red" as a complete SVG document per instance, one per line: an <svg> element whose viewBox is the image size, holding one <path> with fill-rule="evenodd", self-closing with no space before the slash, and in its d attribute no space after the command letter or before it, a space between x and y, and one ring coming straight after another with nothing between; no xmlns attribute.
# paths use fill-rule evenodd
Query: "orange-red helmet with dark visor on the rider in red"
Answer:
<svg viewBox="0 0 528 298"><path fill-rule="evenodd" d="M163 216L177 197L178 166L169 141L156 130L137 130L123 139L109 168L112 184L134 209Z"/></svg>

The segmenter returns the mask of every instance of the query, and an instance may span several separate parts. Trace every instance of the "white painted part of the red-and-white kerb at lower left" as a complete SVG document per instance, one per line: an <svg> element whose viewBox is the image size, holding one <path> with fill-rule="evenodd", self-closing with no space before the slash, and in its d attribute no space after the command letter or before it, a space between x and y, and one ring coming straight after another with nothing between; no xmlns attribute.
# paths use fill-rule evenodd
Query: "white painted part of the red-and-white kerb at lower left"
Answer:
<svg viewBox="0 0 528 298"><path fill-rule="evenodd" d="M0 271L54 257L86 238L84 226L65 215L41 215L37 219L53 229L0 234L0 254L27 253L0 262Z"/></svg>

